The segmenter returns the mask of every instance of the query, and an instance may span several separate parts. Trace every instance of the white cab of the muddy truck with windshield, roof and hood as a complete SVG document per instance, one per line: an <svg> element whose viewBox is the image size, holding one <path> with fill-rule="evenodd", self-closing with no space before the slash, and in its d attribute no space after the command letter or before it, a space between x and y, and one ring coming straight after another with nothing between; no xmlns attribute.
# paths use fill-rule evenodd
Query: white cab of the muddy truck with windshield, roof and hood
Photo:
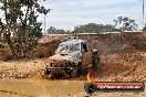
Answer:
<svg viewBox="0 0 146 97"><path fill-rule="evenodd" d="M67 60L79 64L82 62L82 55L87 52L86 44L82 40L66 41L62 42L58 50L55 51L55 55L50 58L53 60Z"/></svg>

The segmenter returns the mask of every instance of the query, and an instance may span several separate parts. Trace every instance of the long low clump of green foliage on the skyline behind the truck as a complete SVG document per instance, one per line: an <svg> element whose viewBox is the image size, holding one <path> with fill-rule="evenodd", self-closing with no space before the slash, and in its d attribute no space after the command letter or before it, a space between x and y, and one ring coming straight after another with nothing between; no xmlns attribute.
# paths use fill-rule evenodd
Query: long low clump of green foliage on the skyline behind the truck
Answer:
<svg viewBox="0 0 146 97"><path fill-rule="evenodd" d="M88 23L85 25L79 25L74 28L73 33L97 33L102 34L104 32L112 32L116 31L115 26L112 24L96 24L96 23Z"/></svg>

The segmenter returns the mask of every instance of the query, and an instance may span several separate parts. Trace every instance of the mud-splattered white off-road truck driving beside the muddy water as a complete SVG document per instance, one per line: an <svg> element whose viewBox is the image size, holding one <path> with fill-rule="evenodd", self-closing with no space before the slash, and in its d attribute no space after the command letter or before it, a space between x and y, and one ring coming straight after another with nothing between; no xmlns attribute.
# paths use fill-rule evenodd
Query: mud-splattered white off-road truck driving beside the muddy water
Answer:
<svg viewBox="0 0 146 97"><path fill-rule="evenodd" d="M95 71L100 57L97 50L88 50L85 41L72 36L59 44L50 60L51 63L45 67L49 78L72 78Z"/></svg>

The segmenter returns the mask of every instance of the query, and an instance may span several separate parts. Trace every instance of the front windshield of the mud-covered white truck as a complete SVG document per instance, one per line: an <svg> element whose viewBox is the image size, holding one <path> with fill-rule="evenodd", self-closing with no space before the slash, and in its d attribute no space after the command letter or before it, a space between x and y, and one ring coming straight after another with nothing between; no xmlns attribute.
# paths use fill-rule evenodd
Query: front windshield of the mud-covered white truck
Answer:
<svg viewBox="0 0 146 97"><path fill-rule="evenodd" d="M60 45L60 47L56 50L59 53L72 53L80 51L80 44L67 44L67 45Z"/></svg>

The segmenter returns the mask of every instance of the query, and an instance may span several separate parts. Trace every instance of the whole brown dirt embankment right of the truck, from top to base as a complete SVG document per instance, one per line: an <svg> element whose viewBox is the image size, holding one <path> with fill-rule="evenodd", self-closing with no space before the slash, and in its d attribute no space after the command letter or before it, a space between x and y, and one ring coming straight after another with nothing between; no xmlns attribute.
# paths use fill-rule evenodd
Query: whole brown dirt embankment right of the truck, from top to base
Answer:
<svg viewBox="0 0 146 97"><path fill-rule="evenodd" d="M88 47L97 48L101 65L97 80L144 80L146 82L146 34L116 33L82 35Z"/></svg>

